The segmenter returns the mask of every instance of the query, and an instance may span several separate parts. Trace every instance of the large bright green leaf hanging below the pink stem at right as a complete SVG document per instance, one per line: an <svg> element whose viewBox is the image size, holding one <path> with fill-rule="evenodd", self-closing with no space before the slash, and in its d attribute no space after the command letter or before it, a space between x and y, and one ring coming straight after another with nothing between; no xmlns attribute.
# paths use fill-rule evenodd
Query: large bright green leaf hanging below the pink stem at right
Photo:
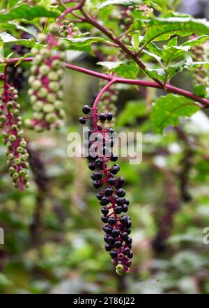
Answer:
<svg viewBox="0 0 209 308"><path fill-rule="evenodd" d="M155 132L162 133L169 125L176 126L180 117L192 116L199 107L184 96L169 94L157 99L150 114Z"/></svg>

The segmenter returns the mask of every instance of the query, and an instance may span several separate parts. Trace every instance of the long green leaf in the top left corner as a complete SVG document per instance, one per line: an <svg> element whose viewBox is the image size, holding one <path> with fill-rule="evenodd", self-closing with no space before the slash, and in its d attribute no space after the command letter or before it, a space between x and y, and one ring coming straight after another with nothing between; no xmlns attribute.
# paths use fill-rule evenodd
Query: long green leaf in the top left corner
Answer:
<svg viewBox="0 0 209 308"><path fill-rule="evenodd" d="M59 17L59 13L55 10L47 10L43 6L29 6L26 3L21 4L10 10L9 13L0 13L0 22L8 22L8 20L33 20L36 17Z"/></svg>

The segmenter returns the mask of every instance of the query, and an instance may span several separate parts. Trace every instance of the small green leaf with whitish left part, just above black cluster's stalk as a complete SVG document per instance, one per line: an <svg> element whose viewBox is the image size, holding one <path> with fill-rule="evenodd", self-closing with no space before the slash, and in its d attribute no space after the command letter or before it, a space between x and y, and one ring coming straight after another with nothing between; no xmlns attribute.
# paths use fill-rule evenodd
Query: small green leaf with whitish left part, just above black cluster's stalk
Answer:
<svg viewBox="0 0 209 308"><path fill-rule="evenodd" d="M132 61L116 61L116 62L98 62L100 66L108 68L110 71L116 72L117 75L123 78L136 79L139 73L139 67Z"/></svg>

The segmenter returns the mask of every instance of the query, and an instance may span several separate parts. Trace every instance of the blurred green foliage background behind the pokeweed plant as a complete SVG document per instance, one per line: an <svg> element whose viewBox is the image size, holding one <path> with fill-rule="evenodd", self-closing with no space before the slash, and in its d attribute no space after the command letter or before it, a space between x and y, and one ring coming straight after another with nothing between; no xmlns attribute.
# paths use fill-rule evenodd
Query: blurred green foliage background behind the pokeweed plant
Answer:
<svg viewBox="0 0 209 308"><path fill-rule="evenodd" d="M184 0L179 10L209 17L207 0ZM98 59L71 52L68 60L72 57L79 66L98 70ZM28 68L24 63L22 71L10 69L11 83L15 74L22 74L26 116L31 112ZM173 84L192 90L192 76L180 73ZM209 227L208 112L199 111L178 128L154 134L147 107L162 93L116 89L116 131L143 132L142 163L119 160L130 199L134 259L130 274L118 277L104 251L100 204L86 160L66 153L68 133L82 131L77 118L99 86L94 77L66 71L65 128L26 131L28 190L13 189L1 143L0 226L5 243L0 245L0 293L209 293L209 244L203 244L203 229Z"/></svg>

